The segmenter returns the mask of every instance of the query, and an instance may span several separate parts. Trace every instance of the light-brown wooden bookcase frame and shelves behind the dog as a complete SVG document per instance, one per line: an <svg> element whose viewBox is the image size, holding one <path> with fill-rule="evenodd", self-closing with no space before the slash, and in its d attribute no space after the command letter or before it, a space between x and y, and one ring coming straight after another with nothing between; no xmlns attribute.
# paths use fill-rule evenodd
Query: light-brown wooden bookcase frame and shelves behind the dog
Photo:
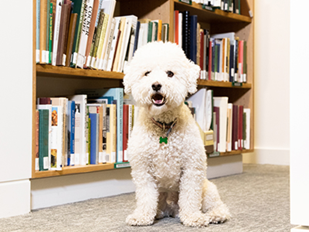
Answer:
<svg viewBox="0 0 309 232"><path fill-rule="evenodd" d="M180 2L178 0L117 0L115 15L136 15L138 18L161 19L170 25L169 40L173 41L174 10L190 11L198 16L202 28L209 29L211 34L235 32L240 40L247 41L247 83L233 86L231 82L198 80L198 88L207 87L214 90L214 96L227 96L229 102L243 105L251 109L250 146L248 150L236 150L220 153L220 156L231 156L240 153L253 152L254 142L254 20L249 11L253 12L254 0L241 0L241 15L225 12L219 9L208 11L201 4ZM37 97L56 97L72 95L77 89L122 87L123 73L91 69L79 69L52 65L41 65L35 62L36 47L36 1L33 1L33 100L32 100L32 178L60 176L111 170L113 164L85 165L64 167L61 171L35 171L35 110Z"/></svg>

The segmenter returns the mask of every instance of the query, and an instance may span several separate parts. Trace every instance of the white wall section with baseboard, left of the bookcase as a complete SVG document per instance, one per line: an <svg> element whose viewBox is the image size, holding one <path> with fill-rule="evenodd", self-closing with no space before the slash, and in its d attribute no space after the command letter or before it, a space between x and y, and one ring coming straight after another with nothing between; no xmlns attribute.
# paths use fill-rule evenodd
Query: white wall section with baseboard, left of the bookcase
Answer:
<svg viewBox="0 0 309 232"><path fill-rule="evenodd" d="M32 1L0 7L0 218L30 211Z"/></svg>

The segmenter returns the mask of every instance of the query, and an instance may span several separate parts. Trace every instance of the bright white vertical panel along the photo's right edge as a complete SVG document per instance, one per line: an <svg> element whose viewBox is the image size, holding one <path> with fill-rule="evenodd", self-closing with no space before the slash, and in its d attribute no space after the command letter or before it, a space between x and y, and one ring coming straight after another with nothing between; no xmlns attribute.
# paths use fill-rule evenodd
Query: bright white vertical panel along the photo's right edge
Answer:
<svg viewBox="0 0 309 232"><path fill-rule="evenodd" d="M302 226L309 226L309 78L307 74L309 44L302 42L308 33L307 28L304 27L305 22L308 21L308 7L307 0L291 1L290 209L291 224Z"/></svg>

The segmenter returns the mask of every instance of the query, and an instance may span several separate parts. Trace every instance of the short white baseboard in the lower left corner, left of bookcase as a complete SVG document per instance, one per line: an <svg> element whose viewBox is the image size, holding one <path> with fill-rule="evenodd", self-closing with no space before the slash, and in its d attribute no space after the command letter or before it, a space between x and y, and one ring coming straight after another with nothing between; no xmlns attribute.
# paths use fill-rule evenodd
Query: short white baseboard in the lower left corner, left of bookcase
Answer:
<svg viewBox="0 0 309 232"><path fill-rule="evenodd" d="M30 212L30 180L0 183L0 218Z"/></svg>

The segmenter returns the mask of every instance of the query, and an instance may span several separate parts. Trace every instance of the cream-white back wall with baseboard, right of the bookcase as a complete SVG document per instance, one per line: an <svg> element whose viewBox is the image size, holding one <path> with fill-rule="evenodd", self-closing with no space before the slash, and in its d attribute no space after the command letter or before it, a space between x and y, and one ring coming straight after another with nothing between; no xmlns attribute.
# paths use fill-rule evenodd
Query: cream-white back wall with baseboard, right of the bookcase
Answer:
<svg viewBox="0 0 309 232"><path fill-rule="evenodd" d="M290 0L255 0L254 153L246 163L289 165Z"/></svg>

